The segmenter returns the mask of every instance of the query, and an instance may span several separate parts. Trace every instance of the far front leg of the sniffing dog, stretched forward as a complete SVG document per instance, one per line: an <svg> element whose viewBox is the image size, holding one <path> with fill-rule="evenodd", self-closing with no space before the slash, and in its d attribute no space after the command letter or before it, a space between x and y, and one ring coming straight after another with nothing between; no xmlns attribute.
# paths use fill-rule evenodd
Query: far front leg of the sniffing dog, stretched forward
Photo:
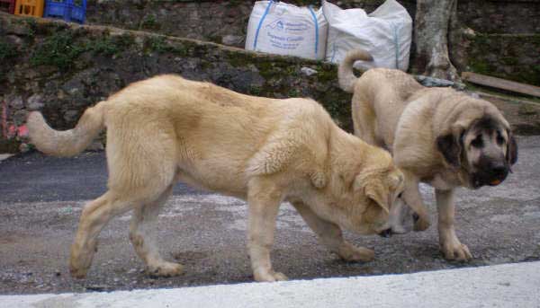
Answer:
<svg viewBox="0 0 540 308"><path fill-rule="evenodd" d="M311 230L319 235L320 242L330 251L338 254L342 260L365 262L374 260L374 251L364 247L355 247L345 241L338 224L321 219L302 202L293 202L293 207L300 213Z"/></svg>

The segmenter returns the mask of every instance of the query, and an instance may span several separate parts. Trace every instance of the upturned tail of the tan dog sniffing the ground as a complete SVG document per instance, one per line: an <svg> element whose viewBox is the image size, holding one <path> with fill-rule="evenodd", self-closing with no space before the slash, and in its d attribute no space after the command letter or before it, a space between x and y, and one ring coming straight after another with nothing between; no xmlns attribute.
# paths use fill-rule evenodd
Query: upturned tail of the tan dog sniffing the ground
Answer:
<svg viewBox="0 0 540 308"><path fill-rule="evenodd" d="M39 111L32 111L26 120L31 143L44 154L73 156L83 152L104 128L104 101L85 110L76 127L59 131L50 128Z"/></svg>

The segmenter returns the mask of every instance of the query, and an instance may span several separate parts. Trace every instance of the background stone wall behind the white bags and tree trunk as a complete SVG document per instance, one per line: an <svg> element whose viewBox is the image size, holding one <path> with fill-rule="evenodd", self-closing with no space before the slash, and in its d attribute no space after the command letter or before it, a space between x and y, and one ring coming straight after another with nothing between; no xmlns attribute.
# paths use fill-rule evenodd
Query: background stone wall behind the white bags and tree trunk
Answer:
<svg viewBox="0 0 540 308"><path fill-rule="evenodd" d="M123 0L90 0L87 18L94 24L110 24L243 48L254 2L136 0L126 4ZM286 2L320 5L320 1L313 0ZM362 7L371 13L384 0L331 2L343 8ZM414 19L416 0L399 2ZM537 43L540 38L540 0L459 0L457 10L460 22L472 30L467 32L472 35L464 37L461 46L454 46L451 50L452 61L459 70L540 85L540 57L537 57L540 48ZM518 46L512 47L516 42ZM414 56L413 48L411 61L414 61Z"/></svg>

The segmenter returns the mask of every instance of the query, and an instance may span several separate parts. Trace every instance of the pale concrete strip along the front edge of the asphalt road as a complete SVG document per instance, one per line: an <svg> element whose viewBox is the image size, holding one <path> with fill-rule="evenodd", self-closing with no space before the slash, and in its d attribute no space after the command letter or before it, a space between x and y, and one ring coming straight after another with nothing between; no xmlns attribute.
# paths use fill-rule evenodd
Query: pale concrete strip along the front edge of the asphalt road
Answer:
<svg viewBox="0 0 540 308"><path fill-rule="evenodd" d="M463 287L466 286L466 287ZM540 262L405 275L62 295L0 295L3 307L539 307Z"/></svg>

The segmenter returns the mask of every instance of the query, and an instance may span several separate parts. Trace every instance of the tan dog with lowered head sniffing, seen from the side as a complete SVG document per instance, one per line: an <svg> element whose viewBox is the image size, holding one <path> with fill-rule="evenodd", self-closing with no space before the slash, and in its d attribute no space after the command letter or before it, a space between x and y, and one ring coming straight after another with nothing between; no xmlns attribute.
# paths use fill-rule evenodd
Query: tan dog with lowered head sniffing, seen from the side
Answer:
<svg viewBox="0 0 540 308"><path fill-rule="evenodd" d="M154 240L157 213L177 180L247 200L257 281L286 278L270 263L282 201L330 251L368 261L374 251L346 242L340 227L385 234L403 189L391 155L338 128L317 102L247 96L175 75L130 84L85 110L74 129L53 130L39 112L28 128L40 151L61 156L83 151L107 128L109 190L82 212L71 248L74 277L85 277L103 226L129 210L130 240L149 273L180 274L182 266L163 260Z"/></svg>

